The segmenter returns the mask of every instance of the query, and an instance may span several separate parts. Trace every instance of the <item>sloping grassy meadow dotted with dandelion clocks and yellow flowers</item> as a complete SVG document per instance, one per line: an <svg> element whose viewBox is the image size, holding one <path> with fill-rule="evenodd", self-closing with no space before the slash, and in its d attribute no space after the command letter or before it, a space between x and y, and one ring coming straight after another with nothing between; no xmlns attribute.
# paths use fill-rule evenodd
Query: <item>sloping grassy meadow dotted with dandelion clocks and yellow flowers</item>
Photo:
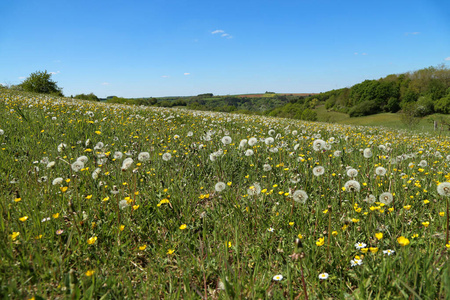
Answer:
<svg viewBox="0 0 450 300"><path fill-rule="evenodd" d="M448 299L450 138L0 91L2 299Z"/></svg>

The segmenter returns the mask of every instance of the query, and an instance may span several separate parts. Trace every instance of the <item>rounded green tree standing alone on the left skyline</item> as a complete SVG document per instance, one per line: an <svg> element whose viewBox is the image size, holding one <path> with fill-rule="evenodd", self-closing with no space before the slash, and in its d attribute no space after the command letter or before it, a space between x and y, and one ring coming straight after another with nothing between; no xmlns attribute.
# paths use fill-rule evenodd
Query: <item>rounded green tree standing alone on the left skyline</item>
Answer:
<svg viewBox="0 0 450 300"><path fill-rule="evenodd" d="M30 76L25 79L20 86L24 91L41 93L41 94L53 94L57 96L64 96L62 93L62 88L56 85L56 82L51 80L52 74L36 71L31 73Z"/></svg>

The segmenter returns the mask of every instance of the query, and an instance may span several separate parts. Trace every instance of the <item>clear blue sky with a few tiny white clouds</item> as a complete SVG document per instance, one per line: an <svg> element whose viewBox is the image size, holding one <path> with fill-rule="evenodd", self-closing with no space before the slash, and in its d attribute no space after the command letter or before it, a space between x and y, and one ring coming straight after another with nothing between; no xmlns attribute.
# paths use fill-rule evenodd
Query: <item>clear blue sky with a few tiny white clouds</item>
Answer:
<svg viewBox="0 0 450 300"><path fill-rule="evenodd" d="M0 83L67 96L323 92L450 66L448 0L1 0Z"/></svg>

